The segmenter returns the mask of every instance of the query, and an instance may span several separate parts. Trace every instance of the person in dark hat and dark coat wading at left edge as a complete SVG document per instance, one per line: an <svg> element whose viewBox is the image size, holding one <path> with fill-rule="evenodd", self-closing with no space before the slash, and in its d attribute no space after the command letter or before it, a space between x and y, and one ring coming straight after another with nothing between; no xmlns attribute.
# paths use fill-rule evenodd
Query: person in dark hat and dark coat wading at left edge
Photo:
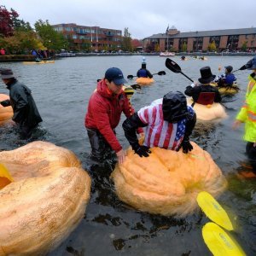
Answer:
<svg viewBox="0 0 256 256"><path fill-rule="evenodd" d="M11 106L14 110L13 120L20 128L20 135L26 139L31 137L32 130L42 122L31 90L21 84L11 69L1 69L1 78L9 90L9 100L0 102L3 107Z"/></svg>

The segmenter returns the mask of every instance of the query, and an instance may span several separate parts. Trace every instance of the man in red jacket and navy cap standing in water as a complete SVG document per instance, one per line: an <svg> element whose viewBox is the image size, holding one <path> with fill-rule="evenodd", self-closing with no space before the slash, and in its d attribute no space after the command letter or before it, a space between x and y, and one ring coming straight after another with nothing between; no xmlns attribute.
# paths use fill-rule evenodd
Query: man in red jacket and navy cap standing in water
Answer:
<svg viewBox="0 0 256 256"><path fill-rule="evenodd" d="M118 67L108 68L104 79L98 82L96 91L90 96L84 125L90 139L92 160L102 161L110 149L117 154L119 164L125 161L125 151L114 131L119 125L122 112L126 117L134 113L122 90L125 83L124 75ZM143 133L143 129L138 129L138 132Z"/></svg>

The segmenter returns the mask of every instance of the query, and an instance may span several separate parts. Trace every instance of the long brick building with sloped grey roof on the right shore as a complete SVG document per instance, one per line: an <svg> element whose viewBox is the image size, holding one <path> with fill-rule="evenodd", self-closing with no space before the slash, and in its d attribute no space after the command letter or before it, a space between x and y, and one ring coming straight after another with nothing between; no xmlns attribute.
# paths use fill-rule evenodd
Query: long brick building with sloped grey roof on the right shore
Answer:
<svg viewBox="0 0 256 256"><path fill-rule="evenodd" d="M219 51L256 49L256 28L237 28L212 31L179 32L174 26L166 33L154 34L143 39L143 48L148 44L151 48L158 48L160 51L175 50L182 51L183 44L186 44L187 51L207 51L209 44L216 45Z"/></svg>

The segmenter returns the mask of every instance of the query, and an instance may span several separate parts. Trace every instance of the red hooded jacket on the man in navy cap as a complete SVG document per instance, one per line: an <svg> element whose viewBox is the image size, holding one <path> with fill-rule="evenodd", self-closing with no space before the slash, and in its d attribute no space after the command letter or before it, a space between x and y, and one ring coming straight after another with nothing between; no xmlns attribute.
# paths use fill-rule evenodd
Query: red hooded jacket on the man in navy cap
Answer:
<svg viewBox="0 0 256 256"><path fill-rule="evenodd" d="M107 88L103 79L98 82L97 90L90 96L84 125L86 128L100 131L110 147L119 152L122 146L113 130L119 125L121 113L124 112L126 117L130 117L134 109L123 90L119 95L114 95L109 93ZM140 132L143 132L143 129Z"/></svg>

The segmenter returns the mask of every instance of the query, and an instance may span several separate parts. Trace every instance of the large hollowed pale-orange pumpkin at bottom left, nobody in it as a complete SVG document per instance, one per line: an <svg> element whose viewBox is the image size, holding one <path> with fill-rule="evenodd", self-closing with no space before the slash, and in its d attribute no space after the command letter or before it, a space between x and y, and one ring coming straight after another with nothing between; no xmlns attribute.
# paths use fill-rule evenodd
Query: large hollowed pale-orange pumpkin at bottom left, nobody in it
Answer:
<svg viewBox="0 0 256 256"><path fill-rule="evenodd" d="M0 152L15 182L0 190L0 255L44 255L84 217L90 177L73 152L34 142Z"/></svg>

